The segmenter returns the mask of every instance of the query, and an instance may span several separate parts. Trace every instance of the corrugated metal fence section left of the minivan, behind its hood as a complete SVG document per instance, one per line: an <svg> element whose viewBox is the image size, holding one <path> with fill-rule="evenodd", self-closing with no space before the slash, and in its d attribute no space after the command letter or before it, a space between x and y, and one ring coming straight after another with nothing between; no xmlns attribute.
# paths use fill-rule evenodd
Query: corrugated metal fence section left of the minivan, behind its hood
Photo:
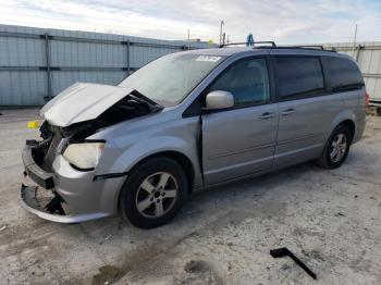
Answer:
<svg viewBox="0 0 381 285"><path fill-rule="evenodd" d="M75 82L115 85L128 72L202 42L0 25L0 106L40 106Z"/></svg>

